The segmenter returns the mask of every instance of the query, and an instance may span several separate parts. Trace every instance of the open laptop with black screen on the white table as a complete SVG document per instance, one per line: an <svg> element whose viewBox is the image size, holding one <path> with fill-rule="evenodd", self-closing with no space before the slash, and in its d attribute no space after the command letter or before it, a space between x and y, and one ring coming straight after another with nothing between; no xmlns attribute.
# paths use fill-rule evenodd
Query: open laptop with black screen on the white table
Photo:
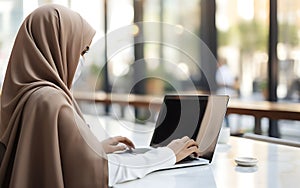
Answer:
<svg viewBox="0 0 300 188"><path fill-rule="evenodd" d="M166 169L211 163L228 101L227 95L165 95L150 147L130 152L144 153L189 136L198 143L200 156L187 158Z"/></svg>

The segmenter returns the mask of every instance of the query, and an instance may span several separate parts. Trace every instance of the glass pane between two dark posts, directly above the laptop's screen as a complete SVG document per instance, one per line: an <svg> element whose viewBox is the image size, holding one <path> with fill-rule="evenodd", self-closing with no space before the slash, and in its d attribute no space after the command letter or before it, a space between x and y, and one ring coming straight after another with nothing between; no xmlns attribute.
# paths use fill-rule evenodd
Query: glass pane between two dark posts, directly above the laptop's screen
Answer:
<svg viewBox="0 0 300 188"><path fill-rule="evenodd" d="M148 94L196 90L200 0L144 1L144 55ZM153 42L154 40L154 42Z"/></svg>

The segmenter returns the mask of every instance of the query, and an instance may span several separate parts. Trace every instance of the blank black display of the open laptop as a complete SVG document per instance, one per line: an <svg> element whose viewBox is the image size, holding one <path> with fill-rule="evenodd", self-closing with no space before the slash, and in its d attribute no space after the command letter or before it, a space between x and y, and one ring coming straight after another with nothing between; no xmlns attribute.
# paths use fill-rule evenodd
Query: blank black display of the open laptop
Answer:
<svg viewBox="0 0 300 188"><path fill-rule="evenodd" d="M151 146L166 146L183 136L196 140L207 103L208 96L165 96Z"/></svg>

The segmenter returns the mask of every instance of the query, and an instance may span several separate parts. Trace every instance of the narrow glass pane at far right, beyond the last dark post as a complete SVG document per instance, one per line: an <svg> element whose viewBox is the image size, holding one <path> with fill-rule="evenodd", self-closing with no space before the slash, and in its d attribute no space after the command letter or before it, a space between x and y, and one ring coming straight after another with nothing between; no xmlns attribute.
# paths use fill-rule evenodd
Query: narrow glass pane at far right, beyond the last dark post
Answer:
<svg viewBox="0 0 300 188"><path fill-rule="evenodd" d="M278 1L279 80L277 95L281 100L300 101L300 2Z"/></svg>

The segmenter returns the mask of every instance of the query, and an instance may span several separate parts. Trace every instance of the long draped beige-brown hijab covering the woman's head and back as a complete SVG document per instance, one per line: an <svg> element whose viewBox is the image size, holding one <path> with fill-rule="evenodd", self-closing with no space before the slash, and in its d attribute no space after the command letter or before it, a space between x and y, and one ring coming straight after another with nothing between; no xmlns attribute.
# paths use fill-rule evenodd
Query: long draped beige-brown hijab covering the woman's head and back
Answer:
<svg viewBox="0 0 300 188"><path fill-rule="evenodd" d="M24 20L2 88L0 187L107 187L105 153L70 92L94 34L59 5Z"/></svg>

